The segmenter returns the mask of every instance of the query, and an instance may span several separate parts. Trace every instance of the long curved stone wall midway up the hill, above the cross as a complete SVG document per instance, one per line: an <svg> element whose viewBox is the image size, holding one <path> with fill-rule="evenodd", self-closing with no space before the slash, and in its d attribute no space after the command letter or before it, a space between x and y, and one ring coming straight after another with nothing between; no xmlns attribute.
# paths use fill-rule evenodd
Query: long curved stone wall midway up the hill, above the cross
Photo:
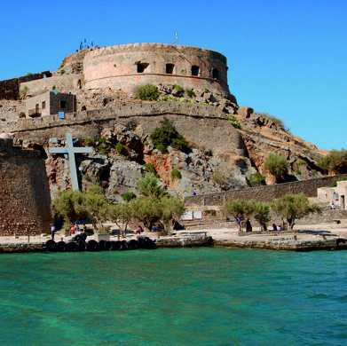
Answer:
<svg viewBox="0 0 347 346"><path fill-rule="evenodd" d="M182 102L107 107L66 114L66 119L59 119L58 115L23 119L1 123L0 132L11 132L15 139L30 139L47 144L51 137L64 139L67 132L72 132L74 138L97 140L105 127L112 128L115 123L125 125L135 122L138 125L138 136L142 137L141 133L151 133L159 126L163 116L167 116L185 138L192 140L195 145L211 149L214 155L227 153L247 156L241 135L221 110Z"/></svg>

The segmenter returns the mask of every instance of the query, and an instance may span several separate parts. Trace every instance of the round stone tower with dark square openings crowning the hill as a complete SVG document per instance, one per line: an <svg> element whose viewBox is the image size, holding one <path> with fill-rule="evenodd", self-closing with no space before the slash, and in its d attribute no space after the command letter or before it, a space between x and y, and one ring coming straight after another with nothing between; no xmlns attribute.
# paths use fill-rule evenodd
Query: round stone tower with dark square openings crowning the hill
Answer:
<svg viewBox="0 0 347 346"><path fill-rule="evenodd" d="M129 43L98 48L83 61L85 88L131 92L138 84L178 84L230 93L226 58L217 51L165 43Z"/></svg>

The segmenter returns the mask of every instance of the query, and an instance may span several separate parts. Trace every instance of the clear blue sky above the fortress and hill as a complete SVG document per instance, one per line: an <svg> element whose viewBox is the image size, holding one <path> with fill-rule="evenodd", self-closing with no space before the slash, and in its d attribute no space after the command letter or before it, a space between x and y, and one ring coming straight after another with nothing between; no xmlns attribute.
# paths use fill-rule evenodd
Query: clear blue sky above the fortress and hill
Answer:
<svg viewBox="0 0 347 346"><path fill-rule="evenodd" d="M347 1L3 2L0 80L58 68L84 38L219 51L240 106L320 149L347 148Z"/></svg>

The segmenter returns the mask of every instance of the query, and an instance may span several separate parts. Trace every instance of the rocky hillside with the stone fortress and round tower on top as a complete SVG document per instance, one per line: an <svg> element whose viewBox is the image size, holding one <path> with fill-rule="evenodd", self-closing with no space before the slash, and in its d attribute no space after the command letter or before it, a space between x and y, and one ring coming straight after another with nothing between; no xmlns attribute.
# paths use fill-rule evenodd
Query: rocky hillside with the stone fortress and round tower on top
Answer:
<svg viewBox="0 0 347 346"><path fill-rule="evenodd" d="M190 102L133 98L134 88L145 83L158 86L161 96ZM175 90L174 84L183 90ZM186 90L194 95L188 96ZM82 105L87 110L76 111ZM28 110L40 106L41 113L30 116ZM66 114L60 116L61 111ZM162 154L154 149L149 136L164 117L188 139L192 153ZM231 117L241 129L231 124ZM288 158L293 180L321 177L315 165L317 148L252 108L239 107L227 84L225 56L197 47L134 43L82 49L52 73L0 81L0 120L0 133L10 133L15 145L40 150L51 194L71 188L66 158L48 153L50 138L64 145L67 132L77 146L88 140L95 149L76 156L80 186L102 185L111 201L122 201L125 192L138 194L144 163L153 164L162 183L181 196L191 195L193 189L201 196L248 187L248 177L261 171L271 152ZM124 145L124 153L114 150L117 143ZM99 152L99 145L105 153ZM300 160L307 165L297 173ZM172 179L172 169L179 169L182 178ZM17 193L17 200L28 201L28 193Z"/></svg>

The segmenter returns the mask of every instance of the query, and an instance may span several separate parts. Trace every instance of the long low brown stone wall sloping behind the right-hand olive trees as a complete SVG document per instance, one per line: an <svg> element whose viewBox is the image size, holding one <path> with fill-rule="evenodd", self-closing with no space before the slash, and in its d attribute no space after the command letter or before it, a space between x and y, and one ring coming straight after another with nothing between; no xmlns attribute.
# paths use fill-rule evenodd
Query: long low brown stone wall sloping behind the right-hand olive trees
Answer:
<svg viewBox="0 0 347 346"><path fill-rule="evenodd" d="M304 193L308 197L316 197L317 189L323 186L329 186L340 177L346 177L347 174L341 174L334 177L318 177L293 183L267 185L259 187L249 187L241 190L232 190L225 193L209 193L200 196L185 197L186 206L221 206L228 199L233 200L256 200L273 201L284 194Z"/></svg>

